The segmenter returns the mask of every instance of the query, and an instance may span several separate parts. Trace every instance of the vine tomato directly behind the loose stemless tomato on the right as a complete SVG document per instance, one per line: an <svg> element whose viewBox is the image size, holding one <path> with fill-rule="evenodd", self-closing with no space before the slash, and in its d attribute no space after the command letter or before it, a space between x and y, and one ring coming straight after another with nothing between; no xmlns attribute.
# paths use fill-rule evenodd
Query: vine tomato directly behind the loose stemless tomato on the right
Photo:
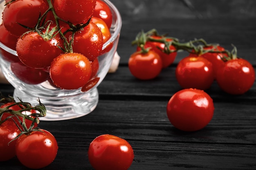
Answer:
<svg viewBox="0 0 256 170"><path fill-rule="evenodd" d="M214 81L211 62L203 57L185 57L176 67L176 79L182 88L206 90Z"/></svg>

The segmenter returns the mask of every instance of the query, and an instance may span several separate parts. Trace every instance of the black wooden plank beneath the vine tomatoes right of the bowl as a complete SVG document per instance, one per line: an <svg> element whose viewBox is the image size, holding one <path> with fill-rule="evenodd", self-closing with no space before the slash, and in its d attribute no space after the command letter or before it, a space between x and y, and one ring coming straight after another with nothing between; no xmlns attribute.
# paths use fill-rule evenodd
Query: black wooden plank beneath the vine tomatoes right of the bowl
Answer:
<svg viewBox="0 0 256 170"><path fill-rule="evenodd" d="M145 100L161 100L169 99L182 88L176 80L174 66L164 69L157 78L146 81L136 79L130 73L128 67L120 66L116 73L106 75L98 89L101 97L111 97L111 99L136 99L141 97ZM254 102L254 104L256 102L256 83L243 95L229 95L223 92L216 81L206 92L216 101L240 100Z"/></svg>

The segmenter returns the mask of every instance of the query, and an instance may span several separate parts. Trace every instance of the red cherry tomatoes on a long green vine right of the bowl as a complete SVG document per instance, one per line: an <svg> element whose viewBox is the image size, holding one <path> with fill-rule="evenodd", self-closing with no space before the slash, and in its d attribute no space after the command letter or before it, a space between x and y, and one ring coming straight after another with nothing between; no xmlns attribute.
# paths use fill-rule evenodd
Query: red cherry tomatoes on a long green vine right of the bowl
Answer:
<svg viewBox="0 0 256 170"><path fill-rule="evenodd" d="M181 43L177 38L159 35L155 29L139 33L132 42L137 51L128 61L132 75L138 79L153 79L162 68L173 63L177 51L189 55L177 64L175 76L184 89L207 90L216 80L226 93L241 95L255 81L255 71L247 60L238 57L237 49L229 52L219 44L207 44L203 39ZM162 65L162 67L161 67Z"/></svg>

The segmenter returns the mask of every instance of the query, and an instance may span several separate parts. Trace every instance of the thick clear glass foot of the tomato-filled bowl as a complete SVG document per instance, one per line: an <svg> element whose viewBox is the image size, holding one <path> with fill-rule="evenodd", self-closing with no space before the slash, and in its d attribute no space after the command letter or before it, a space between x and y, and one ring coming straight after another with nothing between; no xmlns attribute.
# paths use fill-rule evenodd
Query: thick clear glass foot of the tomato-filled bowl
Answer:
<svg viewBox="0 0 256 170"><path fill-rule="evenodd" d="M40 117L40 120L56 121L74 119L91 113L97 106L99 94L97 88L93 88L87 93L79 93L66 97L47 97L38 96L29 91L22 91L15 88L13 97L16 101L31 101L31 105L38 105L38 97L47 109L46 117Z"/></svg>

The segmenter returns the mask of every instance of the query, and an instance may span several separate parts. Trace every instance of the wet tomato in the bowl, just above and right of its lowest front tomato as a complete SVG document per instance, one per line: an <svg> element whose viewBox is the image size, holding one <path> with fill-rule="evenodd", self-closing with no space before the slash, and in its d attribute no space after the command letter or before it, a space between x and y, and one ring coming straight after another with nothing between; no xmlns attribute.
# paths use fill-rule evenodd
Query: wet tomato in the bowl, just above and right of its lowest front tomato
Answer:
<svg viewBox="0 0 256 170"><path fill-rule="evenodd" d="M70 39L70 33L66 35ZM93 61L101 54L103 46L103 36L101 29L90 22L85 28L74 35L73 51L81 53L90 61Z"/></svg>

